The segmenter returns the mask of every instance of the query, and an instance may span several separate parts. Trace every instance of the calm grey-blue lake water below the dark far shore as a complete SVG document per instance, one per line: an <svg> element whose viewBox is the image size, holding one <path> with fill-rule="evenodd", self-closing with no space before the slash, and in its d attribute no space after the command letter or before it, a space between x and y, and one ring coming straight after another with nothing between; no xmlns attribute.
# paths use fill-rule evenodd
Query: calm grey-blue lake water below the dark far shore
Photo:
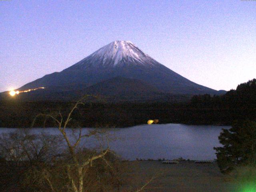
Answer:
<svg viewBox="0 0 256 192"><path fill-rule="evenodd" d="M184 124L153 124L130 128L114 128L110 133L116 140L109 142L110 148L125 159L136 158L185 158L190 160L213 160L216 158L214 146L221 146L218 136L221 129L229 126L196 126ZM0 128L0 133L16 129ZM88 132L91 128L84 128ZM71 130L69 130L71 132ZM34 128L34 133L58 134L56 128ZM95 146L96 140L88 140ZM88 145L87 145L88 146Z"/></svg>

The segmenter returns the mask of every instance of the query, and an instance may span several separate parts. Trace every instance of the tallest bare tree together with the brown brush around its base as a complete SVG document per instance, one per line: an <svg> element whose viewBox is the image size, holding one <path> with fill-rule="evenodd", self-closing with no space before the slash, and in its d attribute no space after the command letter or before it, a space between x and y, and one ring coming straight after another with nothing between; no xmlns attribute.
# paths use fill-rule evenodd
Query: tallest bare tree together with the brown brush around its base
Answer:
<svg viewBox="0 0 256 192"><path fill-rule="evenodd" d="M114 191L113 187L115 186L115 190L121 190L120 185L122 184L122 179L120 174L122 171L120 170L124 171L124 168L120 164L112 164L114 161L112 160L111 162L110 154L112 154L112 157L115 156L115 154L108 146L108 137L106 137L105 147L101 144L100 150L88 150L88 148L85 150L80 148L80 143L83 139L90 137L101 138L100 136L102 135L106 136L106 131L102 129L93 129L84 133L82 132L81 127L72 129L72 134L67 131L69 123L72 120L72 114L78 109L79 105L85 104L83 100L86 97L87 96L76 102L66 117L60 112L55 115L41 113L34 118L32 123L33 127L38 117L54 120L67 145L68 152L66 156L56 160L54 169L43 169L41 172L38 172L40 176L36 176L36 178L40 178L38 180L40 180L42 184L48 185L49 190L52 192L63 191L64 189L70 192L107 192ZM106 167L103 168L103 164L105 164ZM61 175L61 177L56 178L56 172L59 172L57 175ZM102 176L104 176L104 180L101 180L100 177ZM135 191L141 192L142 190L145 190L146 186L148 186L153 179L154 177ZM60 182L62 183L61 187Z"/></svg>

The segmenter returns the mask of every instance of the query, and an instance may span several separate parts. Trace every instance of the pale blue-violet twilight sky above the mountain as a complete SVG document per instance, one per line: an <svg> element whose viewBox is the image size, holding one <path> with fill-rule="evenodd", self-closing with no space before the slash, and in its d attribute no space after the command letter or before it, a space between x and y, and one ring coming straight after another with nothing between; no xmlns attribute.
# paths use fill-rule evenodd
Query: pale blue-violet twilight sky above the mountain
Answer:
<svg viewBox="0 0 256 192"><path fill-rule="evenodd" d="M0 92L130 40L216 90L256 78L256 1L0 1Z"/></svg>

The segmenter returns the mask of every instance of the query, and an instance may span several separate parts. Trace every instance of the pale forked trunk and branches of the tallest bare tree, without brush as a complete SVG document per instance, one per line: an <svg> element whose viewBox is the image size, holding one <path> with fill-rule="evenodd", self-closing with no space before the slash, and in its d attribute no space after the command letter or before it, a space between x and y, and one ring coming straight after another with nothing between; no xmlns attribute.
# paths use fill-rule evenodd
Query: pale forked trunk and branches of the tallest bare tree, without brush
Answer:
<svg viewBox="0 0 256 192"><path fill-rule="evenodd" d="M92 130L92 131L88 132L87 134L82 134L82 128L79 128L78 137L76 138L75 142L71 141L71 138L67 133L68 123L72 120L71 116L72 116L74 110L77 109L79 105L84 105L84 102L82 102L82 100L85 97L83 97L81 100L76 102L76 104L70 110L68 116L65 119L60 112L58 113L57 117L53 116L51 114L38 114L36 116L36 118L38 118L39 116L44 116L46 118L53 119L56 122L56 124L58 125L58 130L64 137L64 140L68 146L69 155L72 159L72 164L66 165L66 171L67 171L68 179L70 181L71 190L73 192L84 192L84 180L88 179L88 178L84 178L84 176L85 176L85 173L87 172L88 168L90 166L92 166L92 164L95 160L100 159L100 158L104 160L104 156L108 152L110 152L109 147L107 147L105 149L101 148L101 150L99 152L90 154L89 156L87 156L87 158L79 158L78 153L77 153L77 148L78 148L78 145L80 144L81 140L83 138L89 138L89 137L95 136L97 134L102 134L102 131ZM34 125L36 118L34 119L32 126ZM74 173L74 171L75 171L75 173ZM48 180L48 183L51 186L52 191L57 191L52 186L52 184L50 182L50 178L48 176L46 176L46 180Z"/></svg>

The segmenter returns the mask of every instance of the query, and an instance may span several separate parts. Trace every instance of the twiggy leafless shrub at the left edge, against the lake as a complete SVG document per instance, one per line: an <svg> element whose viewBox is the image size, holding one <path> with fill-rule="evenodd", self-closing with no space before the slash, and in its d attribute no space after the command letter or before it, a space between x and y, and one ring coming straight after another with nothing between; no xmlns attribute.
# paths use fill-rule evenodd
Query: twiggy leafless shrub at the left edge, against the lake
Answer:
<svg viewBox="0 0 256 192"><path fill-rule="evenodd" d="M0 136L0 154L5 160L17 165L25 161L31 165L33 162L48 161L55 156L59 143L58 136L31 134L28 129L20 129Z"/></svg>

